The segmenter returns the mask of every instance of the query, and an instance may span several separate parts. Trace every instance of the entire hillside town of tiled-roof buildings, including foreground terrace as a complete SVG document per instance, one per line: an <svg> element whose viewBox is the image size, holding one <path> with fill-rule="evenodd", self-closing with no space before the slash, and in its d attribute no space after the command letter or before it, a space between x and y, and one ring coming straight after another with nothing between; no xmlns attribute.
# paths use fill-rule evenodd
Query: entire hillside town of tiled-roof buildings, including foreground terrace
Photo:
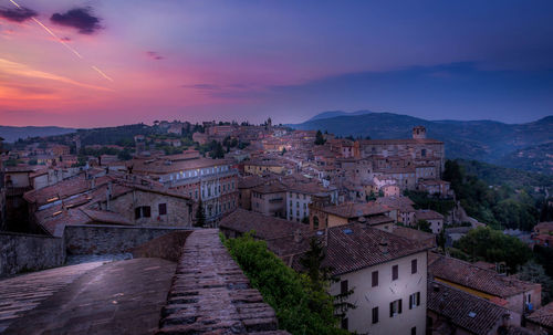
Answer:
<svg viewBox="0 0 553 335"><path fill-rule="evenodd" d="M150 307L134 334L553 334L553 201L499 230L446 154L424 126L344 138L271 118L0 142L0 333L100 329L43 303L86 318L101 302L61 290L104 271L105 320L131 320L129 296Z"/></svg>

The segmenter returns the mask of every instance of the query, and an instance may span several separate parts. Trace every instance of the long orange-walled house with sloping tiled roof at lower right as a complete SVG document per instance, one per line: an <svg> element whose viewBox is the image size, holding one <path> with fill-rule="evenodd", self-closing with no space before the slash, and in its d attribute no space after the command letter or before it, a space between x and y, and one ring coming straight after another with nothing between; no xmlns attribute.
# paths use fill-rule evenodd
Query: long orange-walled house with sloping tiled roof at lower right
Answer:
<svg viewBox="0 0 553 335"><path fill-rule="evenodd" d="M428 273L435 281L462 290L523 315L542 304L541 284L499 274L469 262L431 252Z"/></svg>

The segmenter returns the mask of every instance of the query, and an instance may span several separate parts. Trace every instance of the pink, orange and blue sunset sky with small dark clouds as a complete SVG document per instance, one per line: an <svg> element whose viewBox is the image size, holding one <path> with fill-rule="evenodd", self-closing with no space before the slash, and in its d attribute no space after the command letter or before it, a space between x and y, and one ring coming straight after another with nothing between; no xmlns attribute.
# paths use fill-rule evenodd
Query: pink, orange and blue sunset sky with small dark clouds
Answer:
<svg viewBox="0 0 553 335"><path fill-rule="evenodd" d="M553 115L553 1L0 0L0 125Z"/></svg>

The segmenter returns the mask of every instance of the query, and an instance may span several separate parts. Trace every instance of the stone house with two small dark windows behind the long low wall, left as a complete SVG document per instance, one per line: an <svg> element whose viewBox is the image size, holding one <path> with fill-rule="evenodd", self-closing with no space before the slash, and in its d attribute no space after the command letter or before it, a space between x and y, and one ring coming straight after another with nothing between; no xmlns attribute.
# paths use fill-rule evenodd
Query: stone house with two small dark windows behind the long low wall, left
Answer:
<svg viewBox="0 0 553 335"><path fill-rule="evenodd" d="M192 201L138 176L87 172L40 190L24 200L35 231L62 237L66 224L191 227Z"/></svg>

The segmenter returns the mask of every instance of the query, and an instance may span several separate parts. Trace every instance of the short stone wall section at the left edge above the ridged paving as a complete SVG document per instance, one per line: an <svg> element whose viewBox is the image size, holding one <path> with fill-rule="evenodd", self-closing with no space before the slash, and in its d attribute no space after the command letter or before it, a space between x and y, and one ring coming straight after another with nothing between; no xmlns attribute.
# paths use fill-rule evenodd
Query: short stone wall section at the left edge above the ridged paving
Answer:
<svg viewBox="0 0 553 335"><path fill-rule="evenodd" d="M0 276L63 265L63 239L0 232Z"/></svg>

